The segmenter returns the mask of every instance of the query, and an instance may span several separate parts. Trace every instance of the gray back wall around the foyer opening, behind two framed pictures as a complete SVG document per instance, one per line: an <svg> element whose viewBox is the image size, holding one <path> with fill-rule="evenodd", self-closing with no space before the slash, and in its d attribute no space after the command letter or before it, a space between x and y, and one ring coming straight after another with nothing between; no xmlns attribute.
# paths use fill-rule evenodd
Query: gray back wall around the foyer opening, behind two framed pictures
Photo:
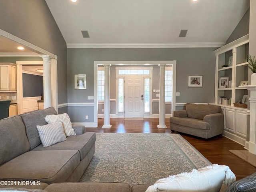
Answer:
<svg viewBox="0 0 256 192"><path fill-rule="evenodd" d="M87 96L94 95L94 61L100 60L176 60L176 102L214 102L216 48L76 48L68 49L68 102L94 102ZM158 67L158 66L157 66ZM110 67L111 68L111 67ZM159 67L158 67L159 68ZM159 71L154 71L158 73ZM74 89L74 75L86 74L87 89ZM188 75L203 75L203 87L188 87ZM110 84L110 89L113 85ZM153 78L159 87L159 76ZM110 98L115 98L114 93ZM154 97L153 97L154 98ZM72 113L78 109L76 117ZM70 118L76 122L93 122L93 108L68 107ZM85 115L89 119L85 120ZM78 118L80 116L80 118ZM72 120L72 119L71 119Z"/></svg>

